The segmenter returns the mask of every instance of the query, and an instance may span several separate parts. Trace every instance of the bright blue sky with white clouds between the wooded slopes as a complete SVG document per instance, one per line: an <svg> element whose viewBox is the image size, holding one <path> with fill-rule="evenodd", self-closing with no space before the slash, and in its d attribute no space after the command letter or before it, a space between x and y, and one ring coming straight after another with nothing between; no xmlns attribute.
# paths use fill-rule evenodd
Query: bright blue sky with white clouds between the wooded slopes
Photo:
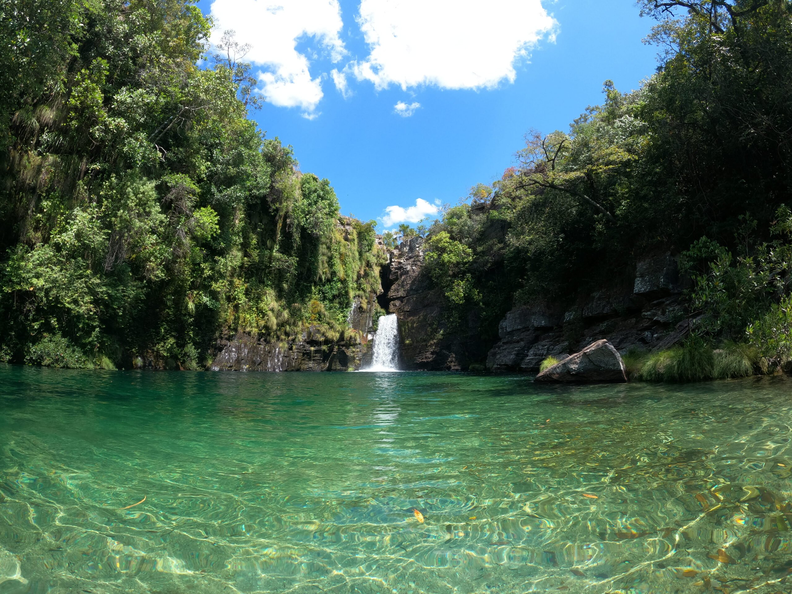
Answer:
<svg viewBox="0 0 792 594"><path fill-rule="evenodd" d="M380 230L388 207L456 204L513 164L529 129L566 129L602 100L604 80L634 89L657 66L657 49L642 44L652 21L631 0L214 2L199 6L253 46L246 59L268 77L270 101L252 114L261 129L293 145L303 172L329 178L342 213L379 219ZM470 18L455 21L465 6ZM401 27L411 58L383 40L379 63L372 59L361 10L369 32ZM345 74L345 94L333 70ZM284 72L289 84L278 86ZM384 222L398 219L403 211L391 209Z"/></svg>

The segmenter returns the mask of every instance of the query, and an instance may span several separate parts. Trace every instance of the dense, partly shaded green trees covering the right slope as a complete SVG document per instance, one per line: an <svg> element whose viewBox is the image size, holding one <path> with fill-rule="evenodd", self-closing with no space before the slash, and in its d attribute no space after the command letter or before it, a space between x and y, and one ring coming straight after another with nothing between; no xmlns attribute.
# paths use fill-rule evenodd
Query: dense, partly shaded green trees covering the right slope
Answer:
<svg viewBox="0 0 792 594"><path fill-rule="evenodd" d="M571 303L629 276L638 257L671 249L695 277L697 335L714 346L750 340L783 364L792 351L792 2L639 4L659 19L657 74L630 93L606 82L603 104L568 132L528 134L517 166L432 227L432 278L452 318L478 310L493 337L515 304Z"/></svg>

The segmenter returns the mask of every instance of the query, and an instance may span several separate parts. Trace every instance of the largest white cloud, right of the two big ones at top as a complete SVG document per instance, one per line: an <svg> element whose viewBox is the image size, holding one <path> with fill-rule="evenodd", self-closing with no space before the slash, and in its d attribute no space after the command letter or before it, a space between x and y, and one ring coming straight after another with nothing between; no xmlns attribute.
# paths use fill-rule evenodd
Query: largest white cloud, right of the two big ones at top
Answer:
<svg viewBox="0 0 792 594"><path fill-rule="evenodd" d="M377 89L513 82L516 61L557 25L541 0L361 0L358 23L371 53L350 68Z"/></svg>

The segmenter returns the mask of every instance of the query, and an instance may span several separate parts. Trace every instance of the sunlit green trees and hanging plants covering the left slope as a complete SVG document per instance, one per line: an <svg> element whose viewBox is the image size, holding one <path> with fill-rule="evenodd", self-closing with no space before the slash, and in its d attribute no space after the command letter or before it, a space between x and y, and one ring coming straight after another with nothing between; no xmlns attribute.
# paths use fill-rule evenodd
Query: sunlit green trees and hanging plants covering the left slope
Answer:
<svg viewBox="0 0 792 594"><path fill-rule="evenodd" d="M200 367L239 329L336 339L379 287L374 223L257 130L209 30L191 0L0 3L0 359Z"/></svg>

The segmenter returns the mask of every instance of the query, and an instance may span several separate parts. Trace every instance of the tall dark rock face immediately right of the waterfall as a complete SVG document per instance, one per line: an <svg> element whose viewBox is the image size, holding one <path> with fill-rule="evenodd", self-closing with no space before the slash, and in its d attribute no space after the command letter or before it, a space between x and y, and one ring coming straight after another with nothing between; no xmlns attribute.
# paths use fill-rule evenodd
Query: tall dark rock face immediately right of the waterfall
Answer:
<svg viewBox="0 0 792 594"><path fill-rule="evenodd" d="M477 340L478 320L450 332L444 320L444 295L432 288L422 269L423 238L411 238L390 252L383 267L381 307L398 317L400 367L406 370L467 369L483 360L486 346Z"/></svg>

